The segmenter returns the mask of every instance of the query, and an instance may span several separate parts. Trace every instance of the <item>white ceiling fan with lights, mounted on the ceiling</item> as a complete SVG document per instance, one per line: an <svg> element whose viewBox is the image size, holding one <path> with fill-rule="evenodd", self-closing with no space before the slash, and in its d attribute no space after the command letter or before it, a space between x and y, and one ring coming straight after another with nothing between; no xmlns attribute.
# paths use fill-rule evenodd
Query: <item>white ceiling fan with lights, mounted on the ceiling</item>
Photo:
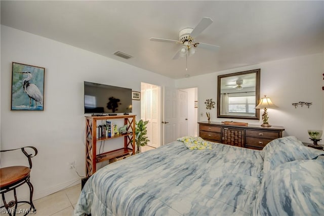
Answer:
<svg viewBox="0 0 324 216"><path fill-rule="evenodd" d="M159 42L171 42L173 44L182 44L182 47L174 55L173 59L178 59L179 57L192 56L195 53L195 48L206 49L210 51L217 51L219 46L205 44L202 42L194 42L195 37L197 37L201 32L203 32L210 24L213 23L213 20L209 17L203 17L201 21L195 28L184 28L179 32L179 40L173 39L164 39L151 37L151 41Z"/></svg>

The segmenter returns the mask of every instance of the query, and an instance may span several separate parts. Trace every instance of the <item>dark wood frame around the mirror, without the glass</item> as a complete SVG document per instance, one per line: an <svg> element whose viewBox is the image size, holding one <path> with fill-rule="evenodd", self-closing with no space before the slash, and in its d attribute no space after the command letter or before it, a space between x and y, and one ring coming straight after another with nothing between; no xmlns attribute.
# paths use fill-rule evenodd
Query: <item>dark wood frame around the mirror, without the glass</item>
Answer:
<svg viewBox="0 0 324 216"><path fill-rule="evenodd" d="M230 73L225 75L219 75L218 76L218 82L217 82L217 117L218 118L242 118L242 119L260 119L260 110L255 110L254 116L245 116L245 115L224 115L221 114L221 107L220 107L220 100L221 100L221 81L223 78L227 77L233 77L233 76L241 76L241 75L247 75L255 73L255 97L256 97L256 104L258 105L260 100L260 69L255 70L248 70L248 71L241 71L236 73Z"/></svg>

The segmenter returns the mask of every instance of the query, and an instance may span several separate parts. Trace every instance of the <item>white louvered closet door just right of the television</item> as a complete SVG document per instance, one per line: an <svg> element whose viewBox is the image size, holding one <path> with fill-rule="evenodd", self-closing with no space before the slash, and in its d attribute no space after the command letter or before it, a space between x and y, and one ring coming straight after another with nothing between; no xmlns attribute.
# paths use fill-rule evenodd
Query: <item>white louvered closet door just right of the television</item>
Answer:
<svg viewBox="0 0 324 216"><path fill-rule="evenodd" d="M157 148L161 145L160 141L160 98L161 88L157 85L141 83L141 118L148 121L146 125L149 139L148 146Z"/></svg>

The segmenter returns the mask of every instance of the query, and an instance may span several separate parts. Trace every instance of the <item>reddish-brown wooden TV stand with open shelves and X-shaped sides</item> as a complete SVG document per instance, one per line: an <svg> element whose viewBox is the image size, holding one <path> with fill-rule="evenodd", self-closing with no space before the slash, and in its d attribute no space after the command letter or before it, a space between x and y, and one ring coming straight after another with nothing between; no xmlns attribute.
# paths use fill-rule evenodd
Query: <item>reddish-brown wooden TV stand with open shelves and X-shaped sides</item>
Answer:
<svg viewBox="0 0 324 216"><path fill-rule="evenodd" d="M96 163L106 161L127 153L135 154L135 116L136 115L114 115L114 116L86 116L86 177L96 172ZM118 134L113 137L97 138L97 121L124 119L127 124L127 134ZM124 148L97 154L97 141L124 138Z"/></svg>

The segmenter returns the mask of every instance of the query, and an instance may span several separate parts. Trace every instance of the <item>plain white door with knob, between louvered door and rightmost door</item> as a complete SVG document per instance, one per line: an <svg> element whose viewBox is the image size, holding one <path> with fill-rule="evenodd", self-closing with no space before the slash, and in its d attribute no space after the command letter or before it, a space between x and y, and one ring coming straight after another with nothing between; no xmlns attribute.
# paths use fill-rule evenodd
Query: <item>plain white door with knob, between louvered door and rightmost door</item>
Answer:
<svg viewBox="0 0 324 216"><path fill-rule="evenodd" d="M164 87L163 145L176 141L177 137L177 90Z"/></svg>

